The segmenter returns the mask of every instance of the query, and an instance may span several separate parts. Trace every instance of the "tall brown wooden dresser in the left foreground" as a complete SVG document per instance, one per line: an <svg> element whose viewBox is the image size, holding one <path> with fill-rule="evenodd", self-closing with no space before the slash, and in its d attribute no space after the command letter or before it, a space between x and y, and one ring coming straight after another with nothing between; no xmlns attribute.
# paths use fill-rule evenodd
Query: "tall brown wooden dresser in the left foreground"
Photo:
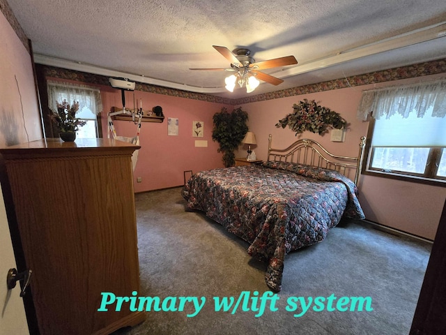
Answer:
<svg viewBox="0 0 446 335"><path fill-rule="evenodd" d="M101 292L139 292L135 149L109 139L0 149L40 334L109 334L144 320L126 304L97 311Z"/></svg>

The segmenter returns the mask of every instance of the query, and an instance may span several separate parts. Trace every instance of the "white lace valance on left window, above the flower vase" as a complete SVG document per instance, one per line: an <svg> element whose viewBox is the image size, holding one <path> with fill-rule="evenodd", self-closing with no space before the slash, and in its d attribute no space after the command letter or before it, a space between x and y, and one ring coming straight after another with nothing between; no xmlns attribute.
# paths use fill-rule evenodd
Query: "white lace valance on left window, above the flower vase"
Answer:
<svg viewBox="0 0 446 335"><path fill-rule="evenodd" d="M57 111L56 103L62 103L63 99L71 105L73 101L79 101L79 111L84 107L89 108L93 114L102 112L100 90L81 84L70 82L55 82L48 80L48 107L53 112Z"/></svg>

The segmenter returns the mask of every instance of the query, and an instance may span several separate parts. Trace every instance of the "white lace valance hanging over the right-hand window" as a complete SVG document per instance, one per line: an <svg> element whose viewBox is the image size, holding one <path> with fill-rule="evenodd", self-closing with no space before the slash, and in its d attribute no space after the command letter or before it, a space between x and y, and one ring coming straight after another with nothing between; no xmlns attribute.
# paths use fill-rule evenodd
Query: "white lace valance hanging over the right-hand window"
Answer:
<svg viewBox="0 0 446 335"><path fill-rule="evenodd" d="M388 119L394 114L407 118L410 113L423 117L430 108L433 117L446 116L446 79L363 91L357 119L367 121L371 112L375 119Z"/></svg>

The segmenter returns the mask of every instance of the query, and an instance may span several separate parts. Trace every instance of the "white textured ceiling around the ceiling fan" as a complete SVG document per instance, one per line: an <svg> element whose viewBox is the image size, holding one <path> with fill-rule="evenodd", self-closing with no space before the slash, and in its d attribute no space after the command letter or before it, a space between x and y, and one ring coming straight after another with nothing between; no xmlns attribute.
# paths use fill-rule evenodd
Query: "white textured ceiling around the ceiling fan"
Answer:
<svg viewBox="0 0 446 335"><path fill-rule="evenodd" d="M213 45L295 56L251 95L446 57L445 0L7 1L36 63L226 98L249 94L227 92L225 71L189 70L230 66Z"/></svg>

